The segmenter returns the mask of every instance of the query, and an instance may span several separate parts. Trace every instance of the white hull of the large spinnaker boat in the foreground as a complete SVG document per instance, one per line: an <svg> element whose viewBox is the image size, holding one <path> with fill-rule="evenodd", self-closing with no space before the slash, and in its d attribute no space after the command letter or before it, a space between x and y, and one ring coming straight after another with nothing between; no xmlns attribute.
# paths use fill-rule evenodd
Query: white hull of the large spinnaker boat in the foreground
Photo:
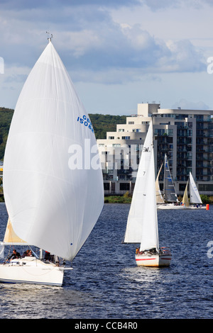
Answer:
<svg viewBox="0 0 213 333"><path fill-rule="evenodd" d="M0 282L62 286L64 269L35 257L13 259L0 264Z"/></svg>

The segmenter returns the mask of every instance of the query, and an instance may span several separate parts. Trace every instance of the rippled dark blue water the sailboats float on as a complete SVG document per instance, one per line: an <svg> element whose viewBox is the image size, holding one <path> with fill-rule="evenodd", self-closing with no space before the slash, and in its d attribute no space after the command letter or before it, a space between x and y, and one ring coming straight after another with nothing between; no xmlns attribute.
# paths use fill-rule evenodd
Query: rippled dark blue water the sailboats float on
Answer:
<svg viewBox="0 0 213 333"><path fill-rule="evenodd" d="M158 211L160 245L173 253L163 269L137 267L136 245L121 243L129 208L104 205L62 288L1 283L1 319L212 318L213 207ZM1 203L1 240L6 222Z"/></svg>

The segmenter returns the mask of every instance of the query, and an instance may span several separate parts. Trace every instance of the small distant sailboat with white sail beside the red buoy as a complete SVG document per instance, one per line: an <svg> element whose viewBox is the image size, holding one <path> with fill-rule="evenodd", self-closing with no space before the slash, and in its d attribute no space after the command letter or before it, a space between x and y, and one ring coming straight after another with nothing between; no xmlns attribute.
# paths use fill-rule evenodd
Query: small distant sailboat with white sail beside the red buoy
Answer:
<svg viewBox="0 0 213 333"><path fill-rule="evenodd" d="M188 184L190 184L190 202L188 199ZM197 190L197 186L195 184L195 180L193 179L192 173L190 172L190 178L187 181L187 185L185 187L185 192L182 198L182 203L185 205L187 209L205 209L202 206L202 200L200 198L199 191Z"/></svg>

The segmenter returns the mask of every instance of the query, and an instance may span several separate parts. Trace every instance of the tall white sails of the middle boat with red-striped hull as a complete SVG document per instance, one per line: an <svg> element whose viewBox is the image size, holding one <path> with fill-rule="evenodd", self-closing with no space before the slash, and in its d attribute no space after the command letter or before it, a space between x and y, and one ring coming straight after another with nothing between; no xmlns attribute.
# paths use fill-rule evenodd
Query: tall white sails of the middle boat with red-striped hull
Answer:
<svg viewBox="0 0 213 333"><path fill-rule="evenodd" d="M138 166L124 242L141 243L141 251L159 248L152 121Z"/></svg>

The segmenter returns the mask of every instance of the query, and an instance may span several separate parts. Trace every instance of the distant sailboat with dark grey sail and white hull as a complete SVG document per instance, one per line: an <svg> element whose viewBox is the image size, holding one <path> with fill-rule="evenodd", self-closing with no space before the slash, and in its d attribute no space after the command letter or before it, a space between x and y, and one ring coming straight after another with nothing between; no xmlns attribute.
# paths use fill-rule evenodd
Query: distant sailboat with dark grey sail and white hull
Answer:
<svg viewBox="0 0 213 333"><path fill-rule="evenodd" d="M158 181L158 179L156 179ZM165 154L164 159L164 185L163 185L163 203L162 201L158 204L159 209L183 209L184 205L178 204L178 196L175 191L173 179L170 173L170 167L168 164L168 158Z"/></svg>

